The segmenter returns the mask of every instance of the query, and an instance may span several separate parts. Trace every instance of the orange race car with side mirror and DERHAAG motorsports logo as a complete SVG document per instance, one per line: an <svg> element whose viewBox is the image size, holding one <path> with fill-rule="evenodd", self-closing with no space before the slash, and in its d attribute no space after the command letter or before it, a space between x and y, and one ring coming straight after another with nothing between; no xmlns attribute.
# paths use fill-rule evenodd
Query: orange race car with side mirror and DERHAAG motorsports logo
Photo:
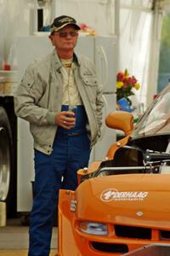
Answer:
<svg viewBox="0 0 170 256"><path fill-rule="evenodd" d="M170 255L169 102L170 84L134 128L131 113L107 116L125 137L78 171L76 191L60 190L59 256ZM138 254L153 244L168 253Z"/></svg>

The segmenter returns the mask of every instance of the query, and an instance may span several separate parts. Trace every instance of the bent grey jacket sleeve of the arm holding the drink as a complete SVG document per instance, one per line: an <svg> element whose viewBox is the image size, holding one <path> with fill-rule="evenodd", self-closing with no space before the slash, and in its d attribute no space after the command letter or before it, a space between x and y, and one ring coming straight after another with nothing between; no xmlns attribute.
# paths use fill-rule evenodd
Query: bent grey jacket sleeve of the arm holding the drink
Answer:
<svg viewBox="0 0 170 256"><path fill-rule="evenodd" d="M44 108L38 104L43 92L43 84L38 80L36 65L31 64L14 93L16 115L37 125L54 124L56 113L48 113L48 106Z"/></svg>

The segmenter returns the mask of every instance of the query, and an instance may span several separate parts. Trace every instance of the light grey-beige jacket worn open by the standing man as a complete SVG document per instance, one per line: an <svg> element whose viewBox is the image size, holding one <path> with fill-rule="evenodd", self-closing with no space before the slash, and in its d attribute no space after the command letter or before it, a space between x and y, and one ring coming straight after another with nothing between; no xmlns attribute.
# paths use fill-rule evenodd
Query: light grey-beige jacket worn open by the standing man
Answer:
<svg viewBox="0 0 170 256"><path fill-rule="evenodd" d="M87 130L93 146L100 136L102 124L102 90L97 83L94 64L87 57L74 55L74 63L77 89L88 115ZM14 94L15 113L30 123L34 148L44 154L51 154L57 131L55 115L62 104L61 67L55 50L34 61L27 67Z"/></svg>

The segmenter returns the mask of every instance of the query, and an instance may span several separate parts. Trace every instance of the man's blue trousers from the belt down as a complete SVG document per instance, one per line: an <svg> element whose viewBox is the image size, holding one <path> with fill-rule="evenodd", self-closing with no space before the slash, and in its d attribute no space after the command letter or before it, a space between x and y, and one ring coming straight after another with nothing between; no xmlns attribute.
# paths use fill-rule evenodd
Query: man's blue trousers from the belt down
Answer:
<svg viewBox="0 0 170 256"><path fill-rule="evenodd" d="M77 170L88 166L89 154L90 142L84 132L76 136L57 132L50 155L35 150L29 256L49 255L59 189L77 188Z"/></svg>

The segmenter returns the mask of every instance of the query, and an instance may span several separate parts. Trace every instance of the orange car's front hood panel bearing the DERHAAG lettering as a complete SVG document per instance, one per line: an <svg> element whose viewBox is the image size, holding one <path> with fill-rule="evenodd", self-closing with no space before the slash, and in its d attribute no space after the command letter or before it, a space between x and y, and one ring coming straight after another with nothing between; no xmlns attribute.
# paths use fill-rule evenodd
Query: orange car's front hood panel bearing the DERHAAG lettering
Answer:
<svg viewBox="0 0 170 256"><path fill-rule="evenodd" d="M126 174L89 178L76 191L79 219L170 227L170 176Z"/></svg>

